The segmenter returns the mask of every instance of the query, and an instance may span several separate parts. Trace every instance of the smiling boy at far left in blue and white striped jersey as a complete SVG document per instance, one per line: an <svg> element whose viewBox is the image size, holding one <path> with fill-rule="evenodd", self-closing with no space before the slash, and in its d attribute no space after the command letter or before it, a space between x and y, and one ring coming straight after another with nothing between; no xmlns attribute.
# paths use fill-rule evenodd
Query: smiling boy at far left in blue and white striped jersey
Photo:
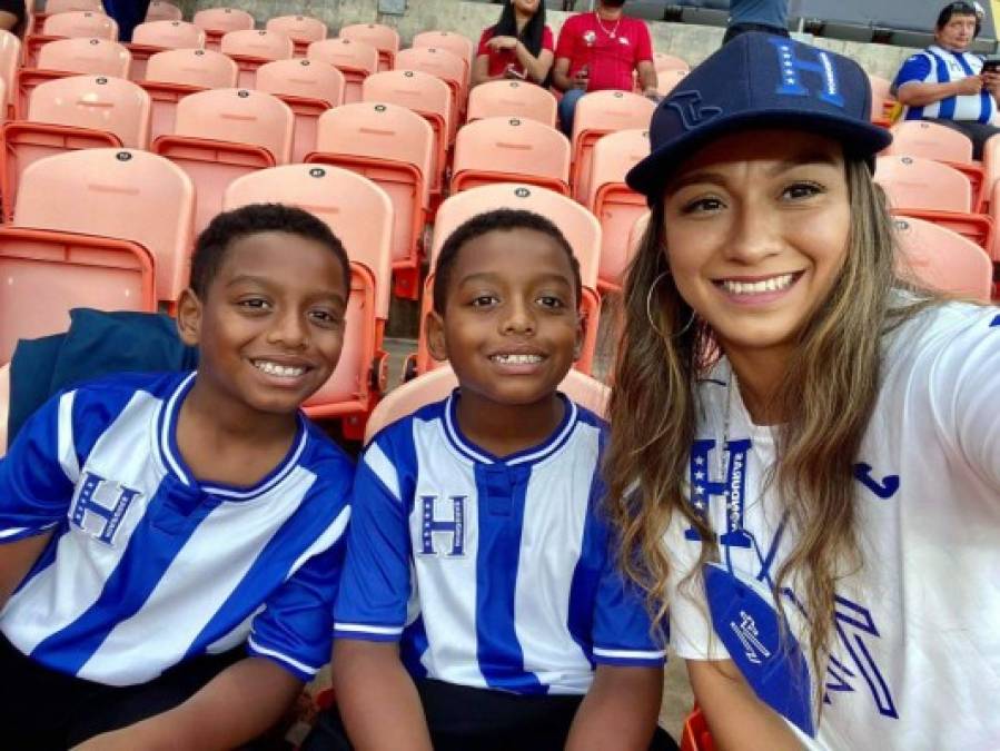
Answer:
<svg viewBox="0 0 1000 751"><path fill-rule="evenodd" d="M337 365L348 279L316 217L219 215L179 300L198 370L85 384L18 434L4 748L234 748L326 662L354 470L299 406Z"/></svg>

